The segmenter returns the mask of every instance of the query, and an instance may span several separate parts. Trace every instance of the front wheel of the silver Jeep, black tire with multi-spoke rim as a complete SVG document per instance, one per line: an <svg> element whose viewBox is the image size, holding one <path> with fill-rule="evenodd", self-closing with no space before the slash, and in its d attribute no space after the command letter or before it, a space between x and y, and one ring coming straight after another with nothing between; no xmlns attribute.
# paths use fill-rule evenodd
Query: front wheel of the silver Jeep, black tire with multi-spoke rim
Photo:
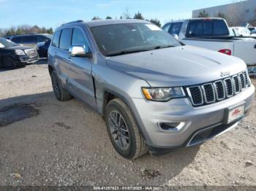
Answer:
<svg viewBox="0 0 256 191"><path fill-rule="evenodd" d="M141 136L135 118L124 101L116 98L108 103L105 109L105 122L110 141L122 157L136 159L148 152L146 141Z"/></svg>

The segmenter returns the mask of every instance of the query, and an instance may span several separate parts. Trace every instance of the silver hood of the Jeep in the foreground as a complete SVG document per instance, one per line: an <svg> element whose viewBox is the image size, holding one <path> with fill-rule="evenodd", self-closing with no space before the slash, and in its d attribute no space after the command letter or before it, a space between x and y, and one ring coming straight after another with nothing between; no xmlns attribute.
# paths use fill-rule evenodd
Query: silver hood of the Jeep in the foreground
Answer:
<svg viewBox="0 0 256 191"><path fill-rule="evenodd" d="M107 58L113 69L144 79L152 87L211 82L246 70L240 58L199 47L180 46Z"/></svg>

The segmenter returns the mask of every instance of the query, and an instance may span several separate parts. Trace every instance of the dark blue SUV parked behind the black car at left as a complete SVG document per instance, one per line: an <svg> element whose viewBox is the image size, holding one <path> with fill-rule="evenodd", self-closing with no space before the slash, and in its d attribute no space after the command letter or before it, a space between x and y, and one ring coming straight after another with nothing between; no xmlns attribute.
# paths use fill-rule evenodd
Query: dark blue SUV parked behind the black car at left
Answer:
<svg viewBox="0 0 256 191"><path fill-rule="evenodd" d="M20 45L36 47L39 42L48 42L52 38L50 34L24 34L10 36L10 40Z"/></svg>

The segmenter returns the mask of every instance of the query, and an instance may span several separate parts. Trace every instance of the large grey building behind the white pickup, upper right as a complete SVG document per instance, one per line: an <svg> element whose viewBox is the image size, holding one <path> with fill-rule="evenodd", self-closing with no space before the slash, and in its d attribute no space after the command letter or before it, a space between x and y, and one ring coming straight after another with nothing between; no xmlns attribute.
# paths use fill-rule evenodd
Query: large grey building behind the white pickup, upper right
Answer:
<svg viewBox="0 0 256 191"><path fill-rule="evenodd" d="M224 17L230 26L240 26L242 23L256 26L256 0L239 1L217 7L197 9L192 12L192 17L199 15Z"/></svg>

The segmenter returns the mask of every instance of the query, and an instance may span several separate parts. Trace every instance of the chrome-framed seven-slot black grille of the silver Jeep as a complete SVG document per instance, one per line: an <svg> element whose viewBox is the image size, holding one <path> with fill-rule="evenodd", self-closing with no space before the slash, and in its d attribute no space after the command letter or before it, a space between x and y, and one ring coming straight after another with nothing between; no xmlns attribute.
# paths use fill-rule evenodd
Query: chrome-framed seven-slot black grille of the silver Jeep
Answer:
<svg viewBox="0 0 256 191"><path fill-rule="evenodd" d="M247 86L249 86L249 80L244 71L226 79L187 87L187 93L193 106L203 106L230 98Z"/></svg>

